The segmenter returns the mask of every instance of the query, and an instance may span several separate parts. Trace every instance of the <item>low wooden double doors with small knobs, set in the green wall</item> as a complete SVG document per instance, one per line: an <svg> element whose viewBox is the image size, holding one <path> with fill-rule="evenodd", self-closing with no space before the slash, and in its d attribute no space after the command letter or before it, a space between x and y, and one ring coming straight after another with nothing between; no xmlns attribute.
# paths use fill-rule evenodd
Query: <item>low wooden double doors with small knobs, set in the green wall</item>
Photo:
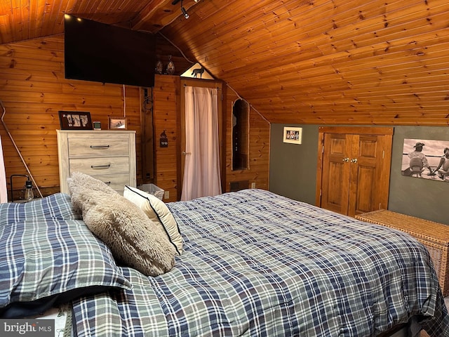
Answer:
<svg viewBox="0 0 449 337"><path fill-rule="evenodd" d="M392 128L320 128L316 204L355 216L387 209Z"/></svg>

